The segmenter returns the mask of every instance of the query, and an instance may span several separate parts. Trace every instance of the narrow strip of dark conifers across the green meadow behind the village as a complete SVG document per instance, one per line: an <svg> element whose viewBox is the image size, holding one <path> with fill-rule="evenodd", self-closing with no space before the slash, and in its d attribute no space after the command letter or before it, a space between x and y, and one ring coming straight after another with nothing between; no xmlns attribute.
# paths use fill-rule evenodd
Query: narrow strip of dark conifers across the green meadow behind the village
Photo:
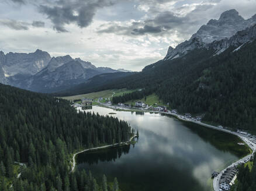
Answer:
<svg viewBox="0 0 256 191"><path fill-rule="evenodd" d="M153 94L154 89L143 89L143 90L137 90L133 91L132 93L125 93L123 95L115 96L112 98L112 102L114 104L118 104L119 102L124 103L126 101L130 100L140 100L147 95Z"/></svg>

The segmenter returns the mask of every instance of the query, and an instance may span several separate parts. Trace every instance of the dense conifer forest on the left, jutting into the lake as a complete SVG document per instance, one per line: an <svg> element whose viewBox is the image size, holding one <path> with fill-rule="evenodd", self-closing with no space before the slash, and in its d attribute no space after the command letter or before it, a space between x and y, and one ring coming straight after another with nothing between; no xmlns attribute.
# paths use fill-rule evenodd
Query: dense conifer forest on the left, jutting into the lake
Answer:
<svg viewBox="0 0 256 191"><path fill-rule="evenodd" d="M117 118L0 84L0 190L102 190L91 173L70 173L70 154L127 141L130 132ZM15 162L26 164L20 178Z"/></svg>

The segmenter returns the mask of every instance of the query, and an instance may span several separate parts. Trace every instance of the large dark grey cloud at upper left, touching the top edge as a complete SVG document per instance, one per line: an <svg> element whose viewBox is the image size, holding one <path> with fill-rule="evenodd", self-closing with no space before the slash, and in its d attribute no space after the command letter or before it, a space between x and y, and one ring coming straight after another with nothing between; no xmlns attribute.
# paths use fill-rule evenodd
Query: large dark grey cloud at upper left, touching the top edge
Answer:
<svg viewBox="0 0 256 191"><path fill-rule="evenodd" d="M116 1L116 0L115 0ZM111 6L114 0L60 0L55 3L39 5L41 13L47 15L58 32L67 32L65 24L75 23L79 27L87 27L92 23L96 10Z"/></svg>

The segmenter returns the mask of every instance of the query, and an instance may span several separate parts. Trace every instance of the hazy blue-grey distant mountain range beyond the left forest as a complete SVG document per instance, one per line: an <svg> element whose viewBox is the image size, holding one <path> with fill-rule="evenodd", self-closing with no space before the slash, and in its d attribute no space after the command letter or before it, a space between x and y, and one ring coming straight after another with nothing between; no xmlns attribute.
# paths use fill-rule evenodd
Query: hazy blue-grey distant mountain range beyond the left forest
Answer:
<svg viewBox="0 0 256 191"><path fill-rule="evenodd" d="M42 93L61 91L95 75L116 72L129 71L97 68L70 55L51 58L48 52L39 49L29 54L0 52L0 83Z"/></svg>

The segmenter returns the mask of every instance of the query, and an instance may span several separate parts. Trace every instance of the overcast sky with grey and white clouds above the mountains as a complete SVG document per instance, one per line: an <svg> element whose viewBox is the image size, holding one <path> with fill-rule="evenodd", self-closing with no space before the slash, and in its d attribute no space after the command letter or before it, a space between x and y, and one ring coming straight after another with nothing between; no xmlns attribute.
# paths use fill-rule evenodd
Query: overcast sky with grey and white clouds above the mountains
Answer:
<svg viewBox="0 0 256 191"><path fill-rule="evenodd" d="M229 9L248 19L256 0L1 0L0 50L139 71Z"/></svg>

